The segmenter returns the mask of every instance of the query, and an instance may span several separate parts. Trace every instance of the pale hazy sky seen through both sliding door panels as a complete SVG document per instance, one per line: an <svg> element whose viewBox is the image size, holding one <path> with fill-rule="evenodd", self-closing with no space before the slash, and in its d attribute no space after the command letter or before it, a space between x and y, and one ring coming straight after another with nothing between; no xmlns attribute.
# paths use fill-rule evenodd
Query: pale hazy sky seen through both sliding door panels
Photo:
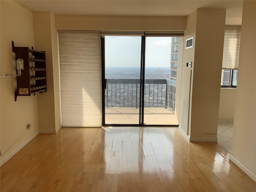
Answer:
<svg viewBox="0 0 256 192"><path fill-rule="evenodd" d="M146 67L170 67L170 37L146 37ZM140 67L141 36L105 36L106 67Z"/></svg>

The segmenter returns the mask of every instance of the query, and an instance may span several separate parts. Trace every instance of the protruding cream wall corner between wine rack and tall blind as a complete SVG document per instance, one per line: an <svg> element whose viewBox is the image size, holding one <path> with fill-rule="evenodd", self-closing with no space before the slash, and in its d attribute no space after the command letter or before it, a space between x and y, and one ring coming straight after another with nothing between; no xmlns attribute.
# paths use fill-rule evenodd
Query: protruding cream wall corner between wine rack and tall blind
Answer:
<svg viewBox="0 0 256 192"><path fill-rule="evenodd" d="M35 48L46 52L47 92L38 96L40 133L56 133L61 128L60 69L58 34L50 12L34 12Z"/></svg>

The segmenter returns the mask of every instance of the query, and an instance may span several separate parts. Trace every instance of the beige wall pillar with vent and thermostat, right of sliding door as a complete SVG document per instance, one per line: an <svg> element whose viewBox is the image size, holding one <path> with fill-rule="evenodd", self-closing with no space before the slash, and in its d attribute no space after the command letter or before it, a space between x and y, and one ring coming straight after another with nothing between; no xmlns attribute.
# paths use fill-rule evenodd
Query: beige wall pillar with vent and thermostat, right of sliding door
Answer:
<svg viewBox="0 0 256 192"><path fill-rule="evenodd" d="M194 47L183 51L182 97L189 99L190 141L217 141L225 19L222 9L200 8L188 17L184 41L194 36Z"/></svg>

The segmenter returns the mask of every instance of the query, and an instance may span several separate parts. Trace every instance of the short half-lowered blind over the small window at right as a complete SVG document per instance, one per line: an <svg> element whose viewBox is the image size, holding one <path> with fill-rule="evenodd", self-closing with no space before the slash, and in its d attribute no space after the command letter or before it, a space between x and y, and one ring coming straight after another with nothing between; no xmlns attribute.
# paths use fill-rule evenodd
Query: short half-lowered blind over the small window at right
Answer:
<svg viewBox="0 0 256 192"><path fill-rule="evenodd" d="M238 69L241 26L226 25L223 48L223 69Z"/></svg>

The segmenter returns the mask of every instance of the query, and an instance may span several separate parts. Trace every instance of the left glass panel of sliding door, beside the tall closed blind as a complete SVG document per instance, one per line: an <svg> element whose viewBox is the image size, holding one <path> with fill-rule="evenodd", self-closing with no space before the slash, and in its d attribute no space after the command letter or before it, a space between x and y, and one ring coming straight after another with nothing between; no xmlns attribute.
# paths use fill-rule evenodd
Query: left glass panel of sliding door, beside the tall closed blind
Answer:
<svg viewBox="0 0 256 192"><path fill-rule="evenodd" d="M105 36L105 124L140 124L141 36Z"/></svg>

